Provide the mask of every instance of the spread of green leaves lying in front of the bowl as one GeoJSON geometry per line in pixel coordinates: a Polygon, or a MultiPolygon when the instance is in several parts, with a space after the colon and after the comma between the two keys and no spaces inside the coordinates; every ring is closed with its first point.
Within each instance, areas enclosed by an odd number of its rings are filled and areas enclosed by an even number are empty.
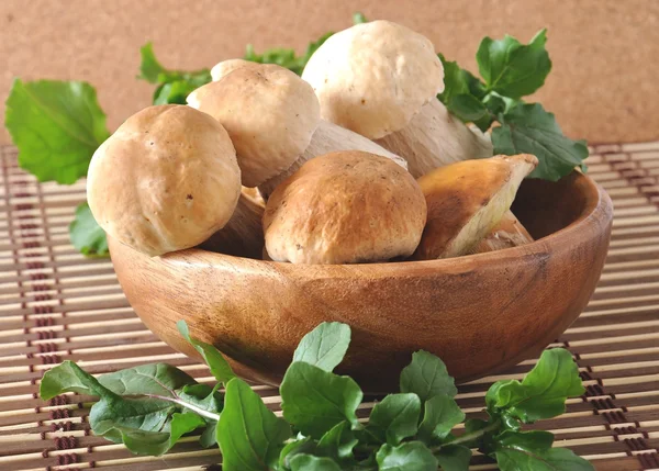
{"type": "Polygon", "coordinates": [[[227,471],[465,471],[471,448],[503,471],[593,470],[570,450],[552,448],[550,433],[521,429],[562,414],[566,399],[583,393],[567,350],[545,351],[522,382],[494,383],[485,396],[488,419],[468,419],[457,435],[451,430],[465,413],[455,401],[454,379],[426,351],[415,352],[401,372],[401,392],[378,402],[362,422],[361,389],[333,372],[349,347],[350,328],[323,323],[293,355],[280,386],[283,417],[278,417],[212,345],[190,337],[182,321],[179,330],[209,365],[219,381],[214,388],[164,363],[97,379],[66,361],[44,374],[41,395],[98,396],[89,416],[93,433],[135,453],[161,455],[198,430],[202,446],[219,444],[227,471]]]}

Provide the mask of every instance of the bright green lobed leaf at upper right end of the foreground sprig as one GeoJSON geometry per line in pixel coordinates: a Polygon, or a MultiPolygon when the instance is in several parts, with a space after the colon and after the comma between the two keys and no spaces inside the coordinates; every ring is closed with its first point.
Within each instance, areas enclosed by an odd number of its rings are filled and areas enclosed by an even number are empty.
{"type": "Polygon", "coordinates": [[[504,414],[524,423],[551,418],[566,411],[568,397],[583,394],[577,363],[568,350],[545,350],[533,370],[520,381],[498,381],[488,391],[491,415],[504,414]]]}

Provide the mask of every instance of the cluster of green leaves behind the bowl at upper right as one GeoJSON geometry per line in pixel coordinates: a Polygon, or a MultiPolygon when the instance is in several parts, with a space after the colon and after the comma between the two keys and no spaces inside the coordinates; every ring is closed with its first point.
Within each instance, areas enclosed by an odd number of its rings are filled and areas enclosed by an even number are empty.
{"type": "Polygon", "coordinates": [[[538,90],[551,70],[546,42],[545,30],[526,45],[509,35],[483,38],[476,54],[482,80],[439,55],[445,88],[437,98],[453,114],[481,131],[499,123],[492,130],[494,154],[533,154],[539,165],[530,177],[556,181],[574,167],[585,170],[588,146],[565,136],[554,114],[541,104],[522,100],[538,90]]]}

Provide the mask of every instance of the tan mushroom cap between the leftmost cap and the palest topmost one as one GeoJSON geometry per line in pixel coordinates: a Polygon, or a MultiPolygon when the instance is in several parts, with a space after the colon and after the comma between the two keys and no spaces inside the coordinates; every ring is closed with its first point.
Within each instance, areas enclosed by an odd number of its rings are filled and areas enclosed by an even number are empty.
{"type": "Polygon", "coordinates": [[[288,169],[321,119],[309,83],[276,65],[239,67],[193,91],[188,103],[226,128],[245,187],[257,187],[288,169]]]}

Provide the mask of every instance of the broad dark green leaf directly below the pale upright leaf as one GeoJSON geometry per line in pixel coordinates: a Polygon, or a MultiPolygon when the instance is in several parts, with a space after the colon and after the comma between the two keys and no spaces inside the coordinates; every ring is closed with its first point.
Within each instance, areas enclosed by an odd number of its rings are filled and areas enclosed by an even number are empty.
{"type": "Polygon", "coordinates": [[[364,394],[351,378],[294,361],[279,392],[283,417],[304,435],[319,439],[343,420],[359,424],[356,411],[364,394]]]}

